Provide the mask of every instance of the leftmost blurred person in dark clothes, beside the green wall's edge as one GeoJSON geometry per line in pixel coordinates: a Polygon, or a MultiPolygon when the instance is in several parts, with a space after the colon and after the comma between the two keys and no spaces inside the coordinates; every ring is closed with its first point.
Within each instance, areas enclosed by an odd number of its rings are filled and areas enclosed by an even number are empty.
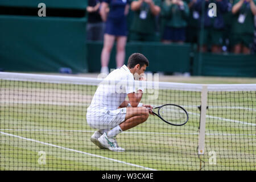
{"type": "Polygon", "coordinates": [[[86,24],[87,40],[102,41],[104,34],[104,23],[100,15],[100,4],[102,0],[88,0],[86,11],[88,20],[86,24]]]}

